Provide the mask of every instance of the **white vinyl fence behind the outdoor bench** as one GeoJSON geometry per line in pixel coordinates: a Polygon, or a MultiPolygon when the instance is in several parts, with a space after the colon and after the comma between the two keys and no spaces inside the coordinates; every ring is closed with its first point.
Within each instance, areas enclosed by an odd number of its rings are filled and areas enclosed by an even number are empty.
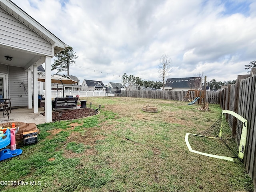
{"type": "MultiPolygon", "coordinates": [[[[45,90],[43,90],[43,95],[45,95],[45,90]]],[[[79,95],[79,97],[114,97],[114,94],[103,91],[64,91],[64,97],[66,97],[66,95],[72,95],[74,97],[77,95],[79,95]]],[[[52,90],[52,98],[55,97],[63,97],[63,91],[52,90]]]]}

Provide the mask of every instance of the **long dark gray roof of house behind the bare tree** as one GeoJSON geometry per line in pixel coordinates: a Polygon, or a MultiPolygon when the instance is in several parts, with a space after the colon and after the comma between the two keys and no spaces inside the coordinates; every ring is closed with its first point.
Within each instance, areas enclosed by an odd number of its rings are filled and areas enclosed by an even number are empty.
{"type": "Polygon", "coordinates": [[[196,84],[198,80],[201,81],[201,77],[185,77],[185,78],[168,78],[164,87],[173,88],[189,88],[196,84]]]}

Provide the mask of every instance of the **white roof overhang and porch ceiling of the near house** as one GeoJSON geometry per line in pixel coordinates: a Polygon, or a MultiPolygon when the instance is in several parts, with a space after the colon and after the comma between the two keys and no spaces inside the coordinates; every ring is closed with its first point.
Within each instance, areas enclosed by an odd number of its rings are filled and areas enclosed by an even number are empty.
{"type": "MultiPolygon", "coordinates": [[[[22,24],[33,30],[36,34],[40,35],[50,44],[52,44],[52,54],[47,55],[53,57],[56,53],[64,50],[68,45],[64,44],[59,38],[54,36],[44,26],[30,17],[21,8],[16,6],[10,0],[1,0],[0,8],[8,12],[11,16],[19,20],[22,24]]],[[[22,67],[24,70],[28,69],[32,65],[40,66],[45,62],[45,56],[42,53],[20,49],[19,47],[10,47],[9,45],[0,44],[0,64],[8,66],[22,67]],[[12,61],[7,61],[4,56],[12,56],[12,61]]]]}

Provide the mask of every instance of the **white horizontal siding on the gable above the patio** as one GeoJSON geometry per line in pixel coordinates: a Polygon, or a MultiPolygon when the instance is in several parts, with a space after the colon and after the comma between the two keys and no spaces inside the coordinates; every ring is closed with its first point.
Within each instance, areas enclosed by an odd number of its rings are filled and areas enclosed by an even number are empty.
{"type": "Polygon", "coordinates": [[[52,56],[52,44],[0,8],[0,44],[52,56]]]}

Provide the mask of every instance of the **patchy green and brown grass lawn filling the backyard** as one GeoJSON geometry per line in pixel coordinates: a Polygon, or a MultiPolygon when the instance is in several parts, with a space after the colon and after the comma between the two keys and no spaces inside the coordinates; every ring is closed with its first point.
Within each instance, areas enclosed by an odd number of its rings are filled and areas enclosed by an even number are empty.
{"type": "Polygon", "coordinates": [[[141,98],[80,98],[96,116],[38,125],[38,143],[0,162],[2,192],[253,191],[239,160],[189,152],[186,132],[199,133],[221,115],[187,102],[141,98]],[[157,113],[142,106],[158,108],[157,113]],[[18,183],[19,182],[19,183],[18,183]],[[22,185],[22,182],[24,185],[22,185]],[[26,185],[28,182],[28,185],[26,185]],[[31,182],[31,183],[30,183],[31,182]]]}

